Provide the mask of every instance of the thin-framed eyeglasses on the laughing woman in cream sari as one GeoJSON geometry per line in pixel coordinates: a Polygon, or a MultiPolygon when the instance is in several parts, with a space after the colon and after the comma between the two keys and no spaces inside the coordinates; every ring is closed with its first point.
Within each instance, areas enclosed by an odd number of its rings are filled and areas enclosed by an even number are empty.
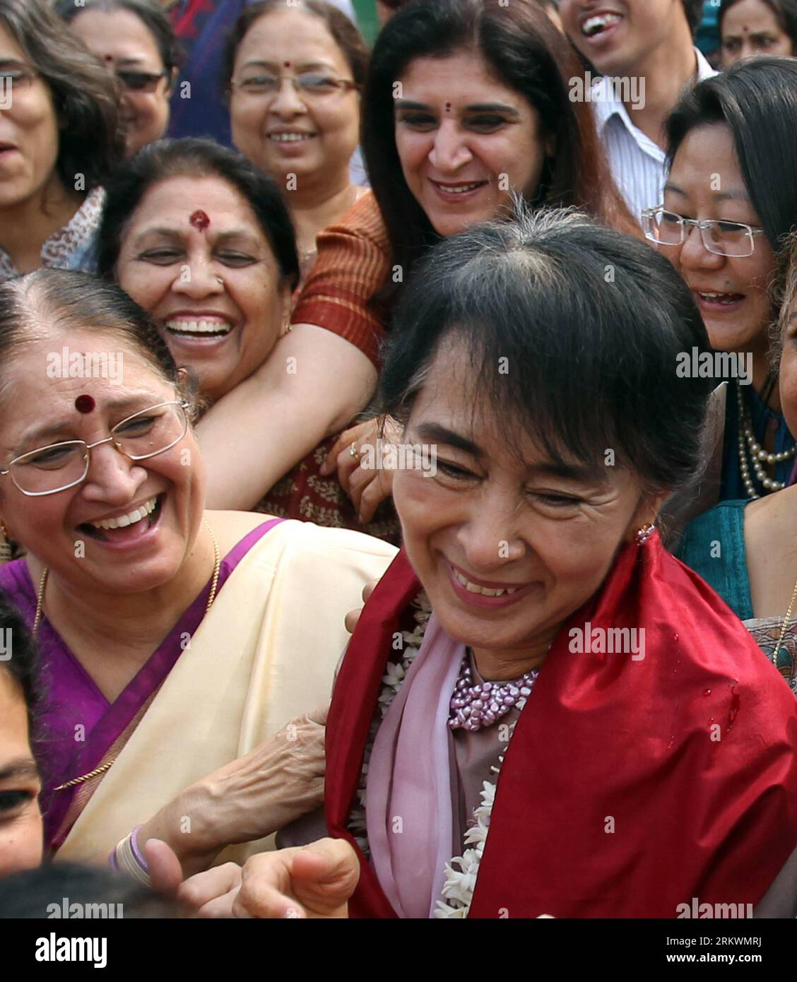
{"type": "Polygon", "coordinates": [[[188,429],[186,402],[158,403],[127,416],[112,427],[111,435],[95,443],[64,440],[28,451],[0,468],[29,498],[56,494],[81,484],[88,475],[91,451],[104,443],[131,461],[146,461],[180,443],[188,429]]]}

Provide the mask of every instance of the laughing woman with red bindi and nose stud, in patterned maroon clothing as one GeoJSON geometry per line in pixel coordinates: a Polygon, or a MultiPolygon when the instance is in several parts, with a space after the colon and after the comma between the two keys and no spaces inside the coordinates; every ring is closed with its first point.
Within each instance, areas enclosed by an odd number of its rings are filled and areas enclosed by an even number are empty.
{"type": "MultiPolygon", "coordinates": [[[[245,157],[189,137],[144,147],[107,191],[99,271],[155,318],[212,407],[274,356],[289,329],[299,268],[288,207],[245,157]]],[[[281,368],[291,373],[292,363],[281,368]]],[[[395,516],[383,510],[361,523],[337,477],[321,477],[334,443],[322,441],[280,475],[256,510],[394,541],[395,516]]],[[[214,466],[208,461],[211,476],[214,466]]]]}

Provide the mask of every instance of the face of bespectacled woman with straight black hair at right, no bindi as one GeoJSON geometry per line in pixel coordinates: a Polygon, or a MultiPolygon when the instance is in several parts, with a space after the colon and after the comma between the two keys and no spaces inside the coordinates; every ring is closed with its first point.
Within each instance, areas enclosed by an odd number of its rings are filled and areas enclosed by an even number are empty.
{"type": "MultiPolygon", "coordinates": [[[[723,123],[696,127],[683,139],[664,187],[664,207],[685,218],[761,226],[733,136],[723,123]]],[[[739,258],[708,251],[694,229],[683,245],[659,249],[692,290],[712,346],[722,352],[752,352],[754,385],[760,385],[762,372],[767,372],[773,312],[769,286],[775,271],[767,237],[757,236],[753,254],[739,258]]]]}

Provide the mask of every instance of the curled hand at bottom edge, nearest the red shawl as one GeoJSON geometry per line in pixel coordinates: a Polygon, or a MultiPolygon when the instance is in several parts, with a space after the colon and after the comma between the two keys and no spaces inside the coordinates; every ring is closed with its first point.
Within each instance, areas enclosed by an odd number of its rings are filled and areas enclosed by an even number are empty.
{"type": "Polygon", "coordinates": [[[359,880],[354,850],[340,839],[261,852],[246,860],[236,917],[347,917],[359,880]]]}

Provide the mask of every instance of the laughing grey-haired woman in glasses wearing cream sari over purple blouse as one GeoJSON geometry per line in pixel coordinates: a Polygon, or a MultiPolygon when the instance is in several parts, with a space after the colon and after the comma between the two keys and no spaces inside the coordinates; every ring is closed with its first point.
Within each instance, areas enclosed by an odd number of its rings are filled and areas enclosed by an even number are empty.
{"type": "Polygon", "coordinates": [[[42,650],[46,845],[140,868],[157,837],[195,872],[320,801],[323,712],[280,727],[329,697],[395,550],[205,514],[180,374],[117,287],[3,285],[0,364],[0,518],[27,550],[0,585],[42,650]]]}

